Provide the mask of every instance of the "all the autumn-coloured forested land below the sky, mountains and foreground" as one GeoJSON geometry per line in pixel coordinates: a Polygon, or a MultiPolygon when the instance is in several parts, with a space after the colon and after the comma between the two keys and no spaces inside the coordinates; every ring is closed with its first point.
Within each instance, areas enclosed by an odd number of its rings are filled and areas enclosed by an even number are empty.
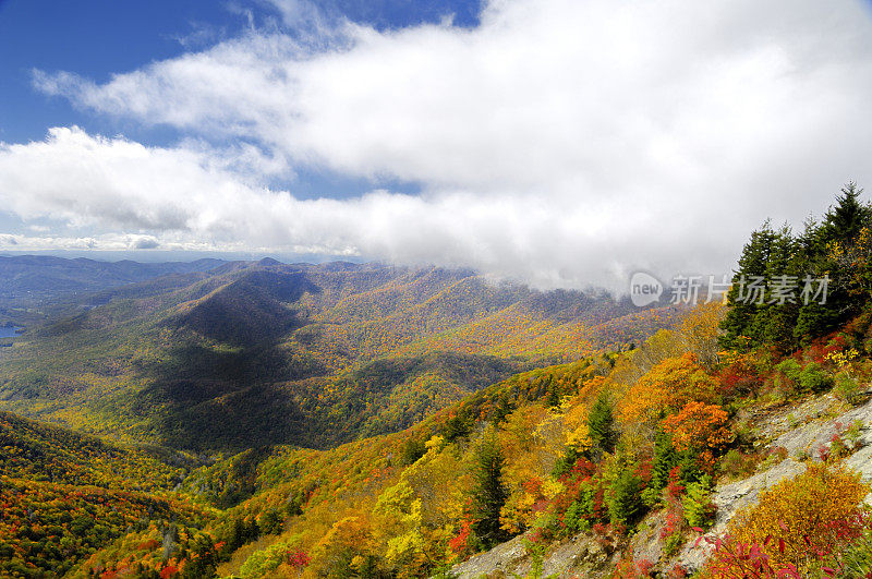
{"type": "Polygon", "coordinates": [[[855,183],[749,233],[723,301],[380,263],[0,272],[2,577],[872,577],[855,183]]]}

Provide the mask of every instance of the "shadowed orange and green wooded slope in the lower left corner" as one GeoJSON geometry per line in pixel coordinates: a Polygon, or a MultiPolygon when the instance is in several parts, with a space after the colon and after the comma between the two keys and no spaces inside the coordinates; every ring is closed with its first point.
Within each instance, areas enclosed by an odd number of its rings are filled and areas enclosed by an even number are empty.
{"type": "Polygon", "coordinates": [[[133,531],[201,529],[214,517],[171,492],[191,457],[119,447],[5,412],[0,450],[2,577],[61,577],[133,531]]]}

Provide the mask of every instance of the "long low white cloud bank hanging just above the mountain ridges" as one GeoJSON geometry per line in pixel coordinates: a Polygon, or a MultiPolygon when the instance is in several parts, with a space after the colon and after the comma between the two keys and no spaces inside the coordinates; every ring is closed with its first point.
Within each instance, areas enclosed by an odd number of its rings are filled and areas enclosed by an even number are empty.
{"type": "MultiPolygon", "coordinates": [[[[677,242],[616,242],[608,216],[536,197],[464,192],[301,201],[246,183],[205,153],[146,147],[56,128],[44,142],[0,146],[0,203],[24,218],[110,228],[86,237],[12,236],[19,249],[264,251],[364,255],[479,267],[543,287],[614,281],[620,256],[653,263],[677,242]],[[133,232],[130,232],[133,231],[133,232]]],[[[625,212],[629,221],[646,218],[625,212]]]]}

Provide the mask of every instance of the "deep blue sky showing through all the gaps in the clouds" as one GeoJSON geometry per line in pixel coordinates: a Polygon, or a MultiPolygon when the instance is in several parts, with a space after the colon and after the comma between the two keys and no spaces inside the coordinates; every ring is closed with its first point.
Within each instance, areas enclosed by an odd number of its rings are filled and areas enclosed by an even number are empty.
{"type": "MultiPolygon", "coordinates": [[[[325,14],[379,31],[446,17],[457,26],[475,26],[481,8],[477,0],[326,0],[317,7],[325,14]]],[[[0,0],[0,141],[38,141],[49,126],[76,124],[92,133],[122,133],[153,145],[171,144],[180,137],[180,131],[171,126],[144,126],[40,94],[34,88],[34,69],[72,71],[106,82],[114,73],[238,36],[252,22],[265,25],[278,19],[274,7],[251,0],[0,0]]],[[[305,168],[293,180],[295,194],[305,198],[360,195],[374,184],[417,191],[414,183],[389,177],[356,179],[305,168]]]]}

